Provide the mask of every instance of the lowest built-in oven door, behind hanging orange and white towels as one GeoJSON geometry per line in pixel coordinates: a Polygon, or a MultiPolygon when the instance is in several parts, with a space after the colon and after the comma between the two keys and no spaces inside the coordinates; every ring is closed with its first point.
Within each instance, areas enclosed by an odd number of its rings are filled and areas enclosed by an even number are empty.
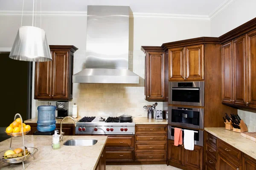
{"type": "MultiPolygon", "coordinates": [[[[175,126],[168,125],[168,139],[174,140],[174,127],[175,126]]],[[[181,128],[181,129],[187,129],[187,128],[181,128]]],[[[187,130],[192,130],[192,129],[187,129],[187,130]]],[[[194,134],[195,145],[203,146],[203,143],[204,143],[204,140],[203,140],[204,131],[203,130],[195,130],[195,131],[198,132],[198,133],[194,134]]],[[[184,140],[184,132],[183,131],[182,131],[182,139],[184,140]]]]}

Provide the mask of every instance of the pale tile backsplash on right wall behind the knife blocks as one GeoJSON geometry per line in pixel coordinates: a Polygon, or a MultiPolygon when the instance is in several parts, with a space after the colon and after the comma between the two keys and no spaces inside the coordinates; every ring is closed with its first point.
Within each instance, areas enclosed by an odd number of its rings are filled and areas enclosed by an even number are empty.
{"type": "Polygon", "coordinates": [[[256,113],[237,110],[238,115],[244,120],[249,132],[256,132],[256,113]]]}

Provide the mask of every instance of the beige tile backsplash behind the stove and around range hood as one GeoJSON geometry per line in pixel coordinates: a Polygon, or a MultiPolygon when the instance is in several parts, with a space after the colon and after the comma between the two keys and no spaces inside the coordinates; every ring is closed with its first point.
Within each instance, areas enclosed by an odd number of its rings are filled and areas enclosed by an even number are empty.
{"type": "MultiPolygon", "coordinates": [[[[77,51],[79,52],[79,51],[77,51]]],[[[74,73],[83,69],[84,52],[75,53],[74,73]],[[79,70],[78,67],[81,67],[79,70]]],[[[140,76],[139,84],[101,84],[73,83],[73,99],[69,102],[69,115],[72,105],[78,105],[79,116],[120,116],[127,113],[131,116],[145,117],[144,105],[153,105],[144,99],[145,90],[145,54],[142,51],[129,51],[129,70],[140,76]]],[[[36,100],[39,105],[47,105],[48,101],[36,100]]],[[[157,110],[163,109],[163,102],[157,102],[157,110]]],[[[56,105],[56,101],[51,101],[56,105]]],[[[36,110],[36,116],[38,115],[36,110]]]]}

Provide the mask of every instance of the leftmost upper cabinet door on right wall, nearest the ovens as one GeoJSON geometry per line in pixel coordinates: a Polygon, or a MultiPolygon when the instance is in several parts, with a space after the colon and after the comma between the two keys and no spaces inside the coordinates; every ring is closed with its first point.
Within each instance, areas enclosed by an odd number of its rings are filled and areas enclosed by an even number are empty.
{"type": "Polygon", "coordinates": [[[232,41],[222,45],[222,102],[233,103],[232,41]]]}

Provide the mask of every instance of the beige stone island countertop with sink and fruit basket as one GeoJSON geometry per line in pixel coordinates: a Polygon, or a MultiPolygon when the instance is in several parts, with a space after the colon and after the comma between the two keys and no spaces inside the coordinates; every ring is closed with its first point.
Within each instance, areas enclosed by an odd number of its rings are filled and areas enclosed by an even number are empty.
{"type": "MultiPolygon", "coordinates": [[[[63,142],[68,139],[97,139],[93,146],[64,146],[52,149],[52,136],[26,135],[25,146],[36,147],[38,152],[33,157],[25,161],[26,170],[95,170],[101,153],[105,147],[107,136],[63,136],[63,142]]],[[[10,140],[0,142],[0,150],[9,149],[10,140]]],[[[22,137],[12,139],[12,147],[22,148],[22,137]]],[[[7,164],[0,161],[1,170],[23,170],[22,163],[7,164]]]]}

